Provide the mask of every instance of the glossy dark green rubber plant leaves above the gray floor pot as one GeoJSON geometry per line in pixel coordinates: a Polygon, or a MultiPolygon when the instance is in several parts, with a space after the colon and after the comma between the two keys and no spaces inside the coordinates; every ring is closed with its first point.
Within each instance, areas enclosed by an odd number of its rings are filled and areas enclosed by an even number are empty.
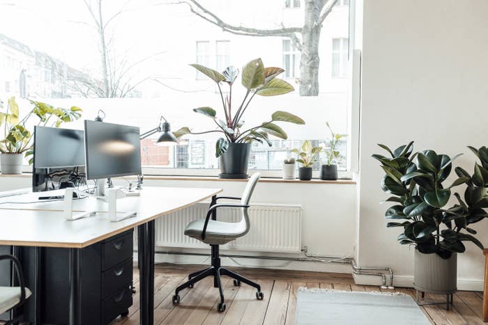
{"type": "Polygon", "coordinates": [[[413,141],[390,150],[386,145],[379,145],[390,157],[373,154],[379,160],[386,173],[381,182],[381,189],[392,194],[386,202],[395,203],[386,210],[387,227],[402,227],[398,236],[400,244],[416,246],[420,253],[436,253],[448,259],[452,253],[466,250],[464,241],[472,241],[483,248],[473,235],[476,231],[471,224],[485,219],[488,214],[488,150],[485,147],[471,148],[481,160],[475,165],[474,175],[457,167],[457,179],[445,185],[452,171],[452,161],[459,154],[450,158],[437,154],[433,150],[413,153],[413,141]],[[464,199],[459,193],[452,193],[453,188],[466,184],[464,199]],[[457,203],[446,207],[451,196],[457,203]]]}

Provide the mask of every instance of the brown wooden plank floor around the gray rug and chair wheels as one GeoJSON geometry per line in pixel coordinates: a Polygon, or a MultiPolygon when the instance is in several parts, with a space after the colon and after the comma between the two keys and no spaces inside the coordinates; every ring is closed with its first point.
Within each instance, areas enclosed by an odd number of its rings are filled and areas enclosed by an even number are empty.
{"type": "MultiPolygon", "coordinates": [[[[217,312],[218,289],[213,280],[206,278],[194,288],[180,293],[181,303],[173,306],[174,289],[185,282],[189,273],[202,269],[201,265],[158,265],[154,281],[154,324],[295,324],[296,294],[298,287],[321,287],[348,291],[398,291],[413,295],[405,288],[380,290],[379,287],[355,285],[348,274],[325,274],[318,272],[277,271],[270,269],[231,268],[251,280],[257,280],[264,292],[264,300],[256,299],[256,291],[247,285],[234,287],[224,276],[225,312],[217,312]]],[[[139,274],[134,275],[138,291],[139,274]]],[[[427,299],[434,297],[427,295],[427,299]]],[[[437,299],[443,299],[437,296],[437,299]]],[[[432,324],[488,324],[482,322],[482,294],[458,292],[454,306],[445,310],[445,305],[421,307],[432,324]]],[[[128,317],[119,317],[112,324],[139,324],[139,296],[128,317]]]]}

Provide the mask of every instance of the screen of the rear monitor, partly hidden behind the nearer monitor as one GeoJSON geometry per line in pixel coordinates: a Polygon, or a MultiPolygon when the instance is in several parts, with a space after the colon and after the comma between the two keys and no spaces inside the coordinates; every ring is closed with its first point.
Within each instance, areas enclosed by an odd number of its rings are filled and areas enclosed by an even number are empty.
{"type": "Polygon", "coordinates": [[[34,168],[84,166],[84,134],[76,129],[34,128],[34,168]]]}

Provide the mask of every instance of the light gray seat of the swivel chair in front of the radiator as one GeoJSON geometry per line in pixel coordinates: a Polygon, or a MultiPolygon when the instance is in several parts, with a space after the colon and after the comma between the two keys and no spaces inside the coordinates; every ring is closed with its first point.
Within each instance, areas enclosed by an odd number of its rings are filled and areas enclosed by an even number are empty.
{"type": "Polygon", "coordinates": [[[227,244],[238,237],[241,237],[246,232],[246,225],[244,222],[230,223],[223,221],[209,220],[205,239],[201,239],[201,232],[204,230],[205,219],[197,219],[188,223],[185,228],[185,235],[203,241],[210,245],[227,244]]]}

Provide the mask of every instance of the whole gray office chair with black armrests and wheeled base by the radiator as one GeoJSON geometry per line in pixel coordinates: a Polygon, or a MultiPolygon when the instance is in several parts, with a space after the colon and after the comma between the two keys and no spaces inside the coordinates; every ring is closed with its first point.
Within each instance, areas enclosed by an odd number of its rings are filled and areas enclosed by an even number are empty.
{"type": "Polygon", "coordinates": [[[176,305],[180,302],[180,296],[178,292],[187,288],[193,287],[199,280],[206,278],[207,276],[213,276],[213,286],[219,288],[220,303],[217,310],[223,312],[225,310],[224,294],[222,292],[222,281],[220,276],[230,276],[234,278],[234,285],[237,287],[241,285],[241,282],[251,285],[257,289],[256,298],[263,300],[264,294],[261,292],[261,286],[257,283],[247,280],[243,276],[236,274],[235,272],[220,267],[219,245],[227,244],[229,241],[233,241],[236,238],[243,237],[250,228],[249,215],[247,214],[247,208],[250,207],[249,201],[252,196],[252,192],[256,187],[259,180],[259,173],[252,175],[247,182],[242,198],[234,198],[229,196],[215,197],[212,200],[210,208],[208,209],[206,219],[198,219],[192,221],[185,228],[185,235],[203,241],[205,244],[211,246],[211,267],[204,269],[188,276],[188,282],[183,283],[176,288],[176,292],[173,296],[173,303],[176,305]],[[223,203],[217,204],[217,200],[241,200],[241,204],[223,203]],[[240,207],[243,210],[243,217],[238,223],[217,221],[217,209],[220,207],[240,207]]]}

